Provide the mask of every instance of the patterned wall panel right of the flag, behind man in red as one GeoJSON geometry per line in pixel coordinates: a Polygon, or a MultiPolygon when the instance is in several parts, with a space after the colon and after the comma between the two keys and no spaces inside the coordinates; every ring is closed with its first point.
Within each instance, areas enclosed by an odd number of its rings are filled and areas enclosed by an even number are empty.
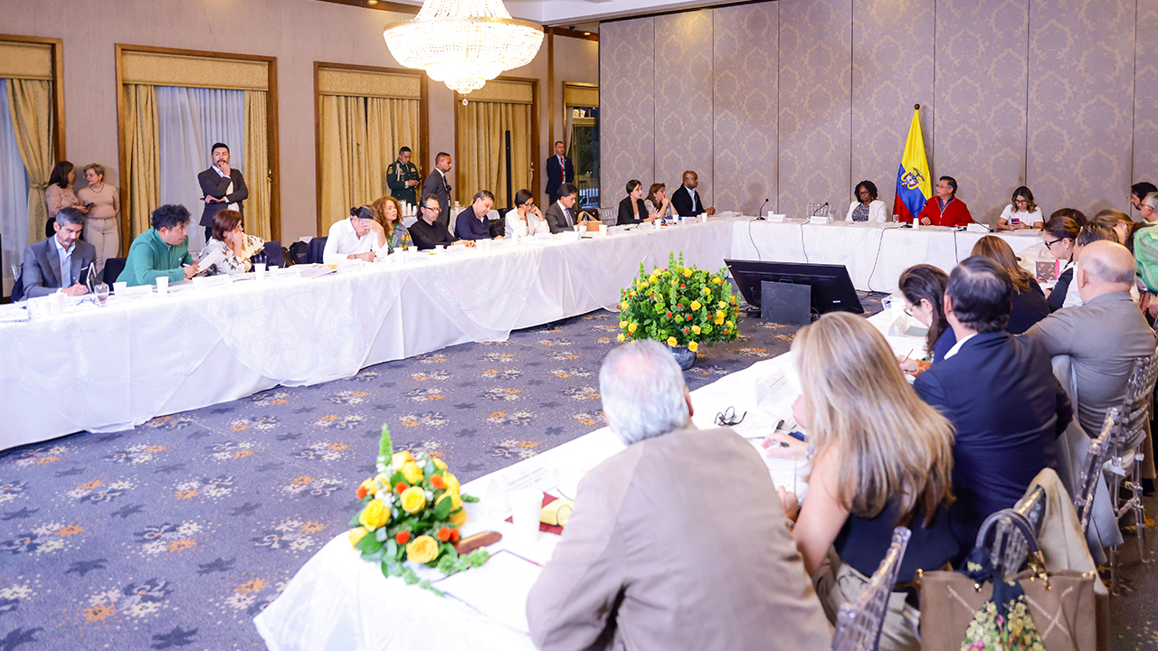
{"type": "Polygon", "coordinates": [[[924,120],[926,142],[932,134],[937,145],[931,170],[957,178],[961,200],[987,224],[1025,182],[1026,6],[937,2],[937,120],[924,120]]]}

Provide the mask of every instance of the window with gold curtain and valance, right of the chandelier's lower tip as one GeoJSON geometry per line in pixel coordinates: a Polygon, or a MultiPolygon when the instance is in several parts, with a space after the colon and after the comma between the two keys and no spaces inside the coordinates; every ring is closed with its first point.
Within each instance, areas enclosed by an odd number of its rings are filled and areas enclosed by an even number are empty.
{"type": "MultiPolygon", "coordinates": [[[[462,97],[460,96],[459,100],[462,97]]],[[[456,199],[469,204],[479,190],[494,195],[497,207],[511,206],[507,196],[506,132],[511,132],[511,192],[534,186],[535,86],[532,82],[494,80],[456,104],[459,133],[454,161],[456,199]]]]}

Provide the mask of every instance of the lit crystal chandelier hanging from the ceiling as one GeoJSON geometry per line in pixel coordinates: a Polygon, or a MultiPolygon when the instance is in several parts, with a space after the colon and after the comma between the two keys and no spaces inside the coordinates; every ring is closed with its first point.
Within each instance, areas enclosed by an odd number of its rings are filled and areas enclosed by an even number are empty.
{"type": "Polygon", "coordinates": [[[529,64],[543,28],[512,19],[503,0],[426,0],[416,19],[386,25],[382,37],[400,64],[466,95],[529,64]]]}

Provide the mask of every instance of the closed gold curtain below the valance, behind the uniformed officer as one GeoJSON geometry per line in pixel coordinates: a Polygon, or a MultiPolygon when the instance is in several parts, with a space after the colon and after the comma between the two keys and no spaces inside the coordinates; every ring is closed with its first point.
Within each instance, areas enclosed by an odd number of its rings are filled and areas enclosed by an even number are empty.
{"type": "Polygon", "coordinates": [[[422,160],[417,100],[323,95],[321,120],[323,228],[390,192],[386,170],[403,145],[422,160]]]}

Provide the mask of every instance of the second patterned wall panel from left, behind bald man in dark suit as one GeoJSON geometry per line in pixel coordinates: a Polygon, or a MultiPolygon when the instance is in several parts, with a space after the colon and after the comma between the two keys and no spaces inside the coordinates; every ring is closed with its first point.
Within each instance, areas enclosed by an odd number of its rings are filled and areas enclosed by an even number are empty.
{"type": "MultiPolygon", "coordinates": [[[[686,169],[712,204],[712,14],[655,17],[655,180],[668,192],[686,169]]],[[[637,177],[638,178],[638,177],[637,177]]]]}

